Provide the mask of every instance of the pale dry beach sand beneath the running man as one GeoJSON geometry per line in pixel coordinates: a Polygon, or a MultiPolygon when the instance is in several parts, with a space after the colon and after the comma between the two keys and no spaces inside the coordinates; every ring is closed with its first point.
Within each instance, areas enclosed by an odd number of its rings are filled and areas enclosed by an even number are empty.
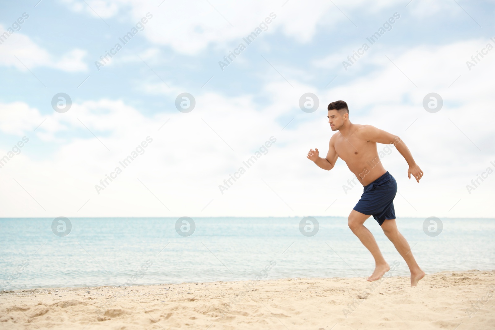
{"type": "Polygon", "coordinates": [[[248,283],[2,292],[0,329],[495,329],[495,271],[248,283]]]}

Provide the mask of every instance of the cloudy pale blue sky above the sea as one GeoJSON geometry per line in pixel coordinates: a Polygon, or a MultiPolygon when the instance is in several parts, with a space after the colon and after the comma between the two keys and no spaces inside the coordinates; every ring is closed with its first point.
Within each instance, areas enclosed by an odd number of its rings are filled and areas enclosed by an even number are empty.
{"type": "Polygon", "coordinates": [[[0,217],[346,217],[335,100],[423,170],[378,144],[397,218],[494,217],[495,1],[1,6],[0,217]]]}

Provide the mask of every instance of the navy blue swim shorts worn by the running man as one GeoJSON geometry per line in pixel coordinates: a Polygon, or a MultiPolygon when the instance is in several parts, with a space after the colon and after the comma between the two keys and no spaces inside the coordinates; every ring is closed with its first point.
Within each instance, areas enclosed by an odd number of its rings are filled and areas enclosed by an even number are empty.
{"type": "Polygon", "coordinates": [[[394,198],[397,193],[396,179],[387,171],[368,186],[354,206],[354,210],[372,215],[381,226],[387,219],[395,219],[394,198]]]}

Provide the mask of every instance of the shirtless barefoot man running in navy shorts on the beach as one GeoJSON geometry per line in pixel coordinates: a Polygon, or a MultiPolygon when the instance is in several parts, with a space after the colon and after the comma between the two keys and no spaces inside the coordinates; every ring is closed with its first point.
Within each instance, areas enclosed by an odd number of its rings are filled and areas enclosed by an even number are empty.
{"type": "Polygon", "coordinates": [[[318,156],[318,149],[310,149],[307,158],[322,169],[330,171],[335,166],[337,158],[340,157],[364,186],[361,198],[349,214],[348,225],[375,258],[375,271],[368,277],[368,281],[379,280],[390,270],[378,248],[375,237],[363,226],[364,221],[372,215],[409,266],[411,286],[416,286],[418,281],[425,276],[425,272],[419,268],[412,256],[409,244],[397,230],[393,202],[397,183],[380,162],[376,143],[396,146],[409,165],[407,171],[409,179],[412,174],[419,183],[423,171],[416,165],[411,152],[399,137],[371,125],[352,124],[349,121],[349,109],[346,102],[335,101],[328,105],[328,123],[332,131],[339,131],[339,133],[330,138],[327,156],[321,158],[318,156]]]}

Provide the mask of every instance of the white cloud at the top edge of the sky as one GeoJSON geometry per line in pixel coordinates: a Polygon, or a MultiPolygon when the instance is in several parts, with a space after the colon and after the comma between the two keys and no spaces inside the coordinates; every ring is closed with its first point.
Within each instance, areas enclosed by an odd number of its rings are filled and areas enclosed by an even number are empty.
{"type": "MultiPolygon", "coordinates": [[[[253,32],[272,12],[276,18],[262,34],[271,34],[280,29],[287,37],[306,43],[320,26],[325,29],[353,29],[353,23],[340,9],[352,16],[352,11],[363,8],[368,13],[376,13],[383,8],[403,4],[403,1],[398,0],[335,1],[339,7],[323,0],[214,0],[209,1],[211,4],[208,1],[179,1],[174,2],[173,6],[167,1],[160,4],[161,1],[88,0],[88,5],[75,0],[64,2],[72,10],[86,12],[96,19],[99,19],[97,14],[103,19],[126,17],[131,25],[150,12],[153,18],[144,30],[148,40],[187,54],[196,54],[209,44],[220,44],[227,49],[227,43],[242,42],[242,38],[253,32]]],[[[438,7],[441,9],[445,5],[438,7]]]]}

